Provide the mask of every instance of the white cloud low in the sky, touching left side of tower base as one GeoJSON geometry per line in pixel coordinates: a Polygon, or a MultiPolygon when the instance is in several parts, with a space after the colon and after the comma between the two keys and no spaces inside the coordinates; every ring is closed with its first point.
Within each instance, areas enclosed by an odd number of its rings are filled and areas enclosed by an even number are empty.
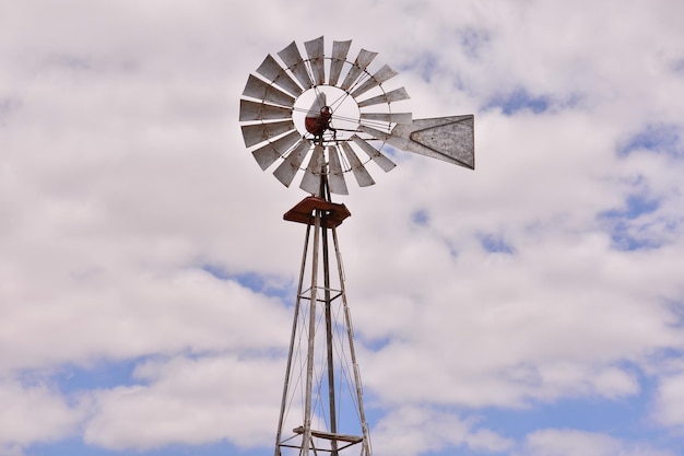
{"type": "Polygon", "coordinates": [[[139,365],[133,386],[82,398],[91,410],[83,439],[109,449],[144,451],[173,443],[271,442],[283,359],[235,354],[177,356],[139,365]]]}

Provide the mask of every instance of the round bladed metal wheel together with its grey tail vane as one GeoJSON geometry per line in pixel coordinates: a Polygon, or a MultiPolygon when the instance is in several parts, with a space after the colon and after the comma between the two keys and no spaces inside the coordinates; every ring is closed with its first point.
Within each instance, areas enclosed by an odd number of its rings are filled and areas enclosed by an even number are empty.
{"type": "Polygon", "coordinates": [[[377,52],[361,49],[349,59],[352,42],[333,42],[323,52],[323,37],[296,43],[268,55],[250,74],[240,100],[245,145],[262,169],[286,187],[302,171],[299,187],[317,195],[321,178],[331,192],[346,195],[344,175],[361,187],[375,184],[366,166],[388,172],[396,165],[390,148],[439,159],[471,169],[474,160],[472,115],[413,119],[394,106],[409,100],[404,87],[386,82],[398,73],[382,66],[372,72],[377,52]]]}

